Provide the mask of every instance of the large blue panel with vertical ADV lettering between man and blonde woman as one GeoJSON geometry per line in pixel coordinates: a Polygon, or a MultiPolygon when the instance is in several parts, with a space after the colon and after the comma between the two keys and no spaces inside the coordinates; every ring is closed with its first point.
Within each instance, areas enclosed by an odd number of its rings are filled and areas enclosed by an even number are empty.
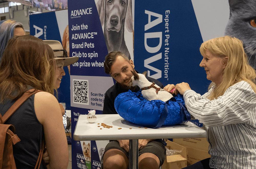
{"type": "Polygon", "coordinates": [[[135,1],[134,64],[165,85],[189,83],[204,94],[210,83],[199,67],[203,42],[191,1],[135,1]],[[138,66],[137,66],[138,65],[138,66]]]}

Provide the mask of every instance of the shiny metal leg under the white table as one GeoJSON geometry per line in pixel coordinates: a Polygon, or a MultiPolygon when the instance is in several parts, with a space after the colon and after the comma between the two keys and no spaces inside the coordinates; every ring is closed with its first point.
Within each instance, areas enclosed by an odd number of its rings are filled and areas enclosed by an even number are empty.
{"type": "Polygon", "coordinates": [[[129,169],[138,169],[138,140],[129,140],[129,169]]]}

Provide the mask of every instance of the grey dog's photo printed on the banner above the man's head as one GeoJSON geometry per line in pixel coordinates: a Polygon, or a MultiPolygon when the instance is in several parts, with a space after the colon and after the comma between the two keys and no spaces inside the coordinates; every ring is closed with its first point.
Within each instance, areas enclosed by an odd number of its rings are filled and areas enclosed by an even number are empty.
{"type": "Polygon", "coordinates": [[[131,0],[99,0],[96,6],[101,26],[104,25],[103,33],[108,53],[121,51],[131,59],[124,40],[126,31],[133,32],[131,0]]]}

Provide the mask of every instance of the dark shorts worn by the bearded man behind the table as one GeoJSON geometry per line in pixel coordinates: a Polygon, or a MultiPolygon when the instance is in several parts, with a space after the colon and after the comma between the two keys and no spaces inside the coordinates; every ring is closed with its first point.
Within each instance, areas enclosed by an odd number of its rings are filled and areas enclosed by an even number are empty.
{"type": "MultiPolygon", "coordinates": [[[[104,154],[105,154],[106,151],[108,151],[110,149],[121,150],[126,155],[126,157],[129,159],[129,152],[126,152],[122,147],[120,147],[118,141],[111,140],[109,142],[109,144],[106,145],[104,154]]],[[[138,156],[140,156],[143,153],[153,153],[153,154],[155,154],[159,158],[160,166],[161,166],[161,165],[163,165],[164,160],[165,160],[165,154],[166,154],[165,145],[162,142],[159,142],[159,141],[151,141],[144,148],[139,150],[138,156]]],[[[103,154],[103,157],[104,157],[104,154],[103,154]]]]}

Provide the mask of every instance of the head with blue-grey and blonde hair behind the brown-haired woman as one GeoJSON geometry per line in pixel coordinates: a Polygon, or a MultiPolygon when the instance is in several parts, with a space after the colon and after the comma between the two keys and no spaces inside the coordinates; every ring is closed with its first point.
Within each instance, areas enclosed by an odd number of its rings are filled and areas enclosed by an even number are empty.
{"type": "Polygon", "coordinates": [[[14,20],[2,20],[0,21],[0,62],[7,42],[13,36],[25,35],[24,27],[22,23],[14,20]]]}

